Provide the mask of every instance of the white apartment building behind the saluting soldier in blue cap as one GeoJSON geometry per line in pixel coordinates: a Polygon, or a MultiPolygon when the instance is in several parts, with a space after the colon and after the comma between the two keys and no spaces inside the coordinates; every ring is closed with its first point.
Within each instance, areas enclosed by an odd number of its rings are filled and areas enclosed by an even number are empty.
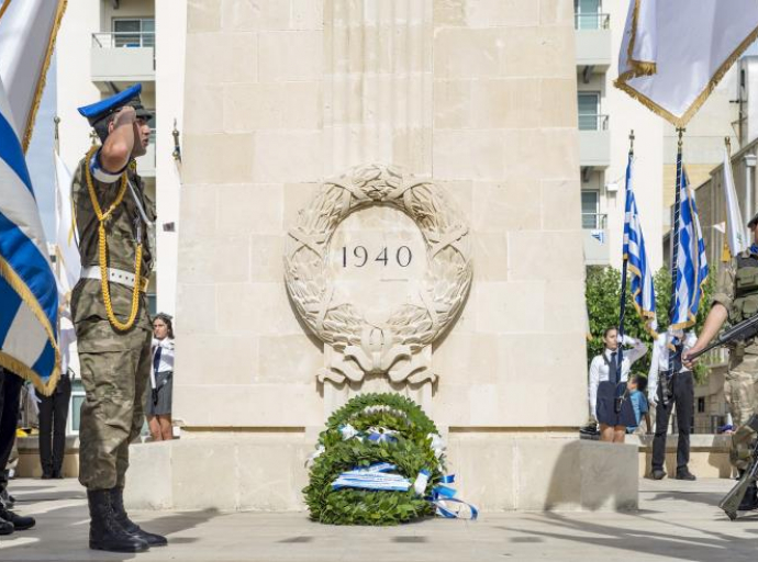
{"type": "Polygon", "coordinates": [[[92,143],[78,106],[141,82],[142,102],[155,112],[148,151],[137,160],[158,213],[152,313],[174,314],[176,302],[180,164],[172,132],[182,124],[186,12],[185,0],[77,0],[68,2],[56,42],[60,155],[70,170],[92,143]]]}

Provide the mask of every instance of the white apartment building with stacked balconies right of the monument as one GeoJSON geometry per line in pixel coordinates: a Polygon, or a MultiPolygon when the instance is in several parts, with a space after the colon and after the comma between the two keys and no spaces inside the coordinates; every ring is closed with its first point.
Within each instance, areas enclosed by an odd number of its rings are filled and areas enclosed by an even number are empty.
{"type": "Polygon", "coordinates": [[[613,86],[626,2],[575,0],[582,228],[588,266],[621,267],[629,133],[648,256],[662,265],[664,121],[613,86]]]}

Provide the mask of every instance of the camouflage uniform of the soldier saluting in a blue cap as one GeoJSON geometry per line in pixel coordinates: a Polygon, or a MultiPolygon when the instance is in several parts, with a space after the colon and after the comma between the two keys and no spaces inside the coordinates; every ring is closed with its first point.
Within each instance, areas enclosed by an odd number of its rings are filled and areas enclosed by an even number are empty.
{"type": "MultiPolygon", "coordinates": [[[[82,268],[99,263],[99,222],[87,189],[86,160],[79,162],[71,186],[82,268]]],[[[134,194],[126,189],[123,201],[105,224],[108,266],[134,273],[138,226],[144,240],[141,277],[149,279],[153,258],[147,243],[148,225],[135,198],[151,222],[155,220],[155,205],[144,193],[133,165],[127,175],[134,194]]],[[[115,200],[120,181],[108,183],[92,177],[103,211],[115,200]]],[[[113,312],[125,322],[132,311],[133,290],[116,282],[109,286],[113,312]]],[[[123,486],[129,443],[140,435],[144,420],[144,394],[151,370],[152,323],[145,294],[141,294],[136,321],[126,331],[115,330],[108,321],[98,279],[81,279],[77,283],[71,292],[71,313],[87,393],[79,429],[79,481],[89,490],[123,486]]]]}

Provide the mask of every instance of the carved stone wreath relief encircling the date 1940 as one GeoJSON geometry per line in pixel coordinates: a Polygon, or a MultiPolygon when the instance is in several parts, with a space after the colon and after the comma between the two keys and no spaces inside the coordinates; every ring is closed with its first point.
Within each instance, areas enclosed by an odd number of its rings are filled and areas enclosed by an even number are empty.
{"type": "Polygon", "coordinates": [[[285,249],[285,280],[308,327],[326,345],[320,382],[360,382],[366,374],[392,383],[434,382],[431,344],[455,321],[471,284],[469,228],[443,190],[392,166],[364,165],[326,180],[300,211],[285,249]],[[426,246],[426,271],[417,294],[368,323],[335,290],[330,240],[352,213],[388,205],[416,224],[426,246]]]}

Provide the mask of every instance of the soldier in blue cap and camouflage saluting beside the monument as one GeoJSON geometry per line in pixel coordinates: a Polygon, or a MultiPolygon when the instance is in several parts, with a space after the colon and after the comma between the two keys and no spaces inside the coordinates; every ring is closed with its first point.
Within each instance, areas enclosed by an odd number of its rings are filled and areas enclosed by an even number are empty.
{"type": "Polygon", "coordinates": [[[79,481],[87,488],[89,546],[140,552],[166,538],[142,530],[123,504],[129,445],[142,429],[152,324],[145,289],[153,263],[155,207],[136,173],[153,115],[142,85],[79,108],[102,142],[81,159],[71,186],[81,280],[71,293],[81,381],[79,481]]]}

